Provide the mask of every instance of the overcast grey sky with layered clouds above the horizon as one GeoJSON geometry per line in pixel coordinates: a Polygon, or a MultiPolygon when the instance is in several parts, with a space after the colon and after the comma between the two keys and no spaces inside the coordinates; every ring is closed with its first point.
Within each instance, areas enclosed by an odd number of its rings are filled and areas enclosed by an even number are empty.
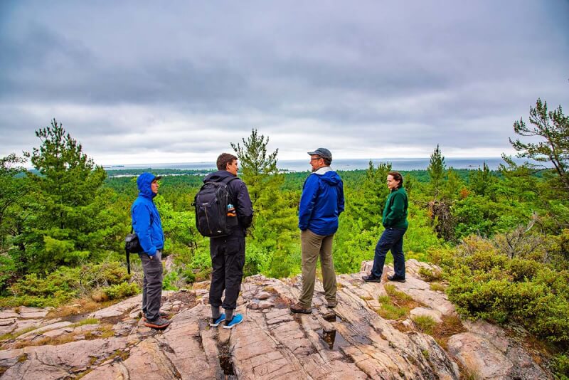
{"type": "Polygon", "coordinates": [[[0,157],[55,117],[97,164],[511,154],[569,113],[569,1],[0,1],[0,157]]]}

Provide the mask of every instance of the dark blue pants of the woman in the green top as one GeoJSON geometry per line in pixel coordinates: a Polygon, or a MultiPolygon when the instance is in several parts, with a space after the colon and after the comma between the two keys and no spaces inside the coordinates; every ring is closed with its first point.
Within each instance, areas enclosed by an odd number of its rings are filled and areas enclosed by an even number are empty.
{"type": "Polygon", "coordinates": [[[403,235],[405,235],[405,231],[407,231],[407,228],[385,228],[376,245],[376,255],[373,258],[373,268],[371,268],[373,277],[381,278],[385,255],[388,250],[391,250],[395,277],[405,278],[405,256],[403,255],[403,235]]]}

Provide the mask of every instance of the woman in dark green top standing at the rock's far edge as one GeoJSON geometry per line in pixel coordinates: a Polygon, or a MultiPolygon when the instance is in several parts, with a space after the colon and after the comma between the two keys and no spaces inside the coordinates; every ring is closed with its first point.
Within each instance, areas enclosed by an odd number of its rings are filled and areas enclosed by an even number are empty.
{"type": "Polygon", "coordinates": [[[407,231],[407,209],[409,206],[408,196],[403,189],[403,176],[398,171],[390,171],[387,176],[387,186],[390,193],[383,209],[383,227],[385,231],[381,235],[376,246],[376,255],[373,258],[371,274],[363,276],[364,281],[381,283],[385,255],[391,250],[393,255],[393,267],[395,274],[388,276],[390,281],[405,283],[405,256],[403,255],[403,235],[407,231]]]}

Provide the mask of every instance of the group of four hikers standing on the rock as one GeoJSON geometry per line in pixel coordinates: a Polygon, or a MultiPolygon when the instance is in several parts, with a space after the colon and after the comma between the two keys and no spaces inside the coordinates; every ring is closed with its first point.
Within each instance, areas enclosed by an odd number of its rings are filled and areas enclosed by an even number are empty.
{"type": "MultiPolygon", "coordinates": [[[[304,181],[298,211],[302,249],[302,292],[297,302],[289,307],[293,313],[304,314],[312,312],[318,258],[320,258],[326,306],[333,309],[337,305],[332,242],[334,233],[338,230],[339,215],[344,211],[344,184],[336,171],[330,167],[331,152],[325,148],[318,148],[308,154],[312,173],[304,181]]],[[[223,184],[227,188],[229,194],[227,215],[235,216],[236,221],[229,231],[220,236],[207,235],[211,236],[209,324],[217,327],[223,323],[223,328],[231,329],[243,322],[243,315],[235,314],[235,309],[243,279],[243,265],[245,265],[245,231],[251,226],[253,209],[247,186],[237,176],[238,158],[233,154],[222,153],[216,165],[218,171],[208,174],[203,179],[204,186],[213,183],[223,184]],[[223,292],[225,295],[222,300],[223,292]]],[[[142,252],[139,253],[144,271],[142,317],[146,326],[155,329],[164,329],[170,324],[166,319],[167,315],[160,312],[164,233],[159,212],[153,201],[154,196],[158,194],[160,178],[151,173],[143,173],[138,177],[139,196],[131,208],[132,228],[137,233],[142,248],[142,252]]],[[[388,250],[393,254],[395,274],[388,276],[387,279],[405,282],[403,235],[408,228],[408,196],[403,188],[403,176],[397,171],[390,171],[387,176],[387,186],[390,193],[385,202],[382,218],[385,231],[376,245],[371,273],[362,277],[366,282],[381,282],[388,250]]]]}

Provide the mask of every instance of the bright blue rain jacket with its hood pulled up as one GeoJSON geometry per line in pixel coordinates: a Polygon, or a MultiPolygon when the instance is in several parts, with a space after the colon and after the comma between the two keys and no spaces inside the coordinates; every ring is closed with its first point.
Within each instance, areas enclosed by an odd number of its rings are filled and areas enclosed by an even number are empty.
{"type": "Polygon", "coordinates": [[[156,194],[150,185],[156,178],[154,174],[142,173],[137,179],[139,194],[130,208],[132,228],[137,233],[140,246],[148,255],[155,255],[156,250],[164,248],[164,232],[158,209],[152,199],[156,194]]]}

